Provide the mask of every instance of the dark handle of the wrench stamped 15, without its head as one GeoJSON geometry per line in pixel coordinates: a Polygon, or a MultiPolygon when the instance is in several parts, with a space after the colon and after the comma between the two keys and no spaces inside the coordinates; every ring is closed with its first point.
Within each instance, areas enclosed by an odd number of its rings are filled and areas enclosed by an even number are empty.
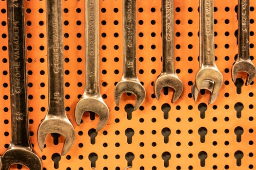
{"type": "Polygon", "coordinates": [[[123,77],[137,78],[136,0],[123,0],[123,77]]]}

